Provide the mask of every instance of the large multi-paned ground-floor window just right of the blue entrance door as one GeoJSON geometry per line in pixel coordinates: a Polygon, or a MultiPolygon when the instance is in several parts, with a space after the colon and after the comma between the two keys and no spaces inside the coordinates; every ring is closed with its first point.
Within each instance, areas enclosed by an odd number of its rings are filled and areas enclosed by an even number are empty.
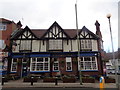
{"type": "Polygon", "coordinates": [[[49,58],[31,58],[31,71],[49,71],[49,58]]]}

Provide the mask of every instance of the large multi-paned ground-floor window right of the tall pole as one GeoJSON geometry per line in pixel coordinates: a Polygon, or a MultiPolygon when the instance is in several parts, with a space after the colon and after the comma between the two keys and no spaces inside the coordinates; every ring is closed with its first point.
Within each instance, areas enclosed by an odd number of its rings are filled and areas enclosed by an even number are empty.
{"type": "MultiPolygon", "coordinates": [[[[80,61],[79,61],[80,68],[80,61]]],[[[81,57],[81,69],[82,70],[97,70],[96,57],[81,57]]]]}

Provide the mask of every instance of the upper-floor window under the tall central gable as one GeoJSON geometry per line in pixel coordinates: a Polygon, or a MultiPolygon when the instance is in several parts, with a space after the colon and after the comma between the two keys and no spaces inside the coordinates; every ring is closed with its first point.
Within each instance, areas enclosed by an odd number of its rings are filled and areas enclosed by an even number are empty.
{"type": "Polygon", "coordinates": [[[49,40],[49,50],[62,50],[62,40],[49,40]]]}

